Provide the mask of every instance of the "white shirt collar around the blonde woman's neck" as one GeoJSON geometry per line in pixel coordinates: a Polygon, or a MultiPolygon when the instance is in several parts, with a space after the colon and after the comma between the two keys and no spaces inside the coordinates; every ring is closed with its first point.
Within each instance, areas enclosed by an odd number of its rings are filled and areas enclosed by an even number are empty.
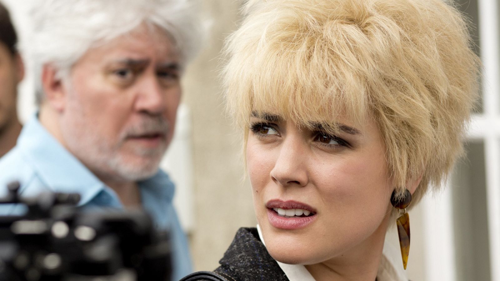
{"type": "MultiPolygon", "coordinates": [[[[260,226],[257,224],[258,236],[265,246],[264,238],[262,237],[262,232],[260,231],[260,226]]],[[[389,235],[385,235],[385,241],[383,244],[382,258],[380,260],[380,265],[378,266],[377,281],[406,281],[406,275],[402,268],[402,264],[396,263],[394,256],[397,255],[398,248],[395,248],[390,241],[388,241],[389,235]],[[392,258],[390,258],[392,257],[392,258]],[[396,266],[399,264],[399,266],[396,266]]],[[[301,264],[287,264],[276,260],[281,270],[290,281],[315,281],[314,277],[307,271],[305,266],[301,264]]]]}

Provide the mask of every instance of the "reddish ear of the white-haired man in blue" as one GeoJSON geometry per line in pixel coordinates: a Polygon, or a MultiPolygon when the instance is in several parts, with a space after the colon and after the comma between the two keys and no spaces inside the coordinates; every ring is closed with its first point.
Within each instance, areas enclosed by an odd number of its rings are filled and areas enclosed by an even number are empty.
{"type": "Polygon", "coordinates": [[[41,70],[41,84],[50,107],[62,112],[66,105],[66,88],[58,75],[58,69],[52,64],[45,64],[41,70]]]}

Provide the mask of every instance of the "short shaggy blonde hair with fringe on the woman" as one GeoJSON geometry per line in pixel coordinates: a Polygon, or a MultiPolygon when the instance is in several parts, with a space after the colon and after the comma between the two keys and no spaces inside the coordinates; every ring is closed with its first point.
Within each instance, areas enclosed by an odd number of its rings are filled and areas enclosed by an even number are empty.
{"type": "Polygon", "coordinates": [[[479,68],[450,3],[249,0],[243,13],[222,77],[244,132],[253,110],[332,130],[340,114],[374,118],[399,194],[421,177],[414,205],[440,186],[462,153],[479,68]]]}

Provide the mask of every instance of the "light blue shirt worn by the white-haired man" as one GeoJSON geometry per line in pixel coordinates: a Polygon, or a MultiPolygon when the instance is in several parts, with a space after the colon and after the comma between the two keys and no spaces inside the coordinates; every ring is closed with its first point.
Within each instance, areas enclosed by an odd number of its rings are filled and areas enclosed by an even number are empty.
{"type": "MultiPolygon", "coordinates": [[[[77,192],[82,207],[123,208],[117,194],[75,156],[67,151],[38,121],[36,114],[22,128],[12,150],[0,158],[0,196],[9,182],[21,183],[22,196],[36,196],[42,191],[77,192]]],[[[172,205],[174,185],[168,175],[158,170],[139,181],[142,206],[156,226],[170,230],[172,280],[192,272],[184,235],[172,205]]],[[[13,205],[0,206],[0,214],[16,212],[13,205]]]]}

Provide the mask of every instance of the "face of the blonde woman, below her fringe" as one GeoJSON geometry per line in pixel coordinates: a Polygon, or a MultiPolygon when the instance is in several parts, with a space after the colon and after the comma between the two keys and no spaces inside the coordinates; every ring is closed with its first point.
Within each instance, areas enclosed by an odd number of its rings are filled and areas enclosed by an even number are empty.
{"type": "Polygon", "coordinates": [[[279,112],[254,111],[246,165],[257,220],[276,260],[357,256],[358,245],[383,238],[393,186],[373,120],[297,124],[279,112]]]}

